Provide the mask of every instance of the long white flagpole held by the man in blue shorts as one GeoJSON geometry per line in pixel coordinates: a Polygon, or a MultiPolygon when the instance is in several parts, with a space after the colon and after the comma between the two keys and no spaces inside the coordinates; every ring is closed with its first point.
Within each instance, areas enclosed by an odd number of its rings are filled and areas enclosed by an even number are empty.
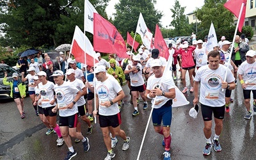
{"type": "MultiPolygon", "coordinates": [[[[171,63],[172,65],[172,54],[169,55],[169,58],[168,58],[168,63],[171,63]]],[[[163,72],[163,76],[161,77],[161,80],[160,80],[160,83],[159,83],[159,87],[161,86],[162,82],[163,82],[163,77],[164,77],[164,74],[167,72],[168,68],[170,69],[170,65],[166,65],[166,67],[164,68],[164,72],[163,72]],[[169,67],[168,67],[169,66],[169,67]]],[[[156,95],[157,97],[157,95],[156,95]]],[[[145,141],[145,137],[146,137],[146,134],[147,134],[147,130],[148,130],[148,125],[150,123],[150,119],[151,119],[151,116],[152,116],[152,112],[153,112],[153,109],[154,109],[154,106],[155,106],[155,103],[156,103],[156,97],[154,98],[154,102],[151,106],[151,111],[150,111],[150,115],[148,117],[148,122],[147,122],[147,125],[146,125],[146,129],[145,129],[145,132],[143,134],[143,138],[142,138],[142,141],[141,141],[141,145],[140,145],[140,150],[139,150],[139,153],[138,153],[138,156],[137,156],[137,160],[140,159],[140,154],[141,154],[141,150],[142,150],[142,147],[143,147],[143,143],[145,141]]]]}

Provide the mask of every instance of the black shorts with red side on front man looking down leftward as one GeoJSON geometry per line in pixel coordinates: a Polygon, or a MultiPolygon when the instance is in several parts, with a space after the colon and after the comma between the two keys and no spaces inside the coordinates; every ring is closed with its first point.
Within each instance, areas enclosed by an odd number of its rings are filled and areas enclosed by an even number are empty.
{"type": "Polygon", "coordinates": [[[99,122],[100,122],[100,127],[118,127],[122,121],[121,121],[121,115],[120,113],[117,113],[116,115],[111,115],[111,116],[102,116],[99,115],[99,122]]]}

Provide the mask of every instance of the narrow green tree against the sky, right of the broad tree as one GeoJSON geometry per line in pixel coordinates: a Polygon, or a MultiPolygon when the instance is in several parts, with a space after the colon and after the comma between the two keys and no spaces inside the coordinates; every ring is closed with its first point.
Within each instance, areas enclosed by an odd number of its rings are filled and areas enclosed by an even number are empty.
{"type": "Polygon", "coordinates": [[[186,15],[184,15],[185,8],[180,6],[178,0],[175,0],[173,8],[170,9],[173,13],[171,26],[175,28],[174,31],[177,34],[173,36],[188,35],[188,20],[186,20],[186,15]]]}

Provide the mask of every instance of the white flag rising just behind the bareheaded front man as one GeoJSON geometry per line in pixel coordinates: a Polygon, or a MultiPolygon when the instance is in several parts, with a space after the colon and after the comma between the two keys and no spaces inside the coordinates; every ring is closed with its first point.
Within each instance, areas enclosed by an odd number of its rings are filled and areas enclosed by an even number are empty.
{"type": "Polygon", "coordinates": [[[217,41],[216,32],[215,32],[213,24],[211,23],[211,28],[210,28],[209,34],[208,34],[208,40],[207,40],[205,47],[208,52],[211,52],[213,50],[213,47],[215,47],[217,45],[218,45],[218,41],[217,41]]]}

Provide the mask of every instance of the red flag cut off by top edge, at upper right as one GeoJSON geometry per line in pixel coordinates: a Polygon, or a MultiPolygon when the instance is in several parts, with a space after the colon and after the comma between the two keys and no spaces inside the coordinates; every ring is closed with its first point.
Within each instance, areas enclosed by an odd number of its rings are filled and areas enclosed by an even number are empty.
{"type": "Polygon", "coordinates": [[[227,3],[224,4],[225,8],[227,8],[230,12],[236,15],[238,19],[242,3],[244,3],[244,6],[241,13],[239,26],[238,26],[239,32],[242,32],[242,28],[244,25],[244,18],[245,18],[245,12],[246,12],[246,0],[229,0],[227,1],[227,3]]]}

